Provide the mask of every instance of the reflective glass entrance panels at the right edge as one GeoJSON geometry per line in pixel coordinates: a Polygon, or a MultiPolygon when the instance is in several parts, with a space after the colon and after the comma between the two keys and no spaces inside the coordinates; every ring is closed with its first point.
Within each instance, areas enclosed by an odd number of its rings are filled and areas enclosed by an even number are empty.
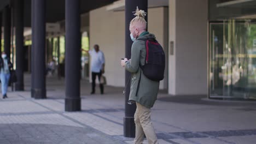
{"type": "Polygon", "coordinates": [[[210,23],[210,98],[256,98],[256,23],[210,23]]]}

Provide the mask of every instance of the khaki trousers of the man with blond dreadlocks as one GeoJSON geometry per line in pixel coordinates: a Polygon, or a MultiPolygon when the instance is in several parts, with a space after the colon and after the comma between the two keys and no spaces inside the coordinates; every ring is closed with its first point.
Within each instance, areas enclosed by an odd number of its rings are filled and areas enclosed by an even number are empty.
{"type": "Polygon", "coordinates": [[[146,135],[149,144],[157,144],[158,138],[150,119],[151,110],[139,103],[136,103],[136,105],[137,109],[134,115],[136,125],[135,144],[142,144],[144,135],[146,135]]]}

